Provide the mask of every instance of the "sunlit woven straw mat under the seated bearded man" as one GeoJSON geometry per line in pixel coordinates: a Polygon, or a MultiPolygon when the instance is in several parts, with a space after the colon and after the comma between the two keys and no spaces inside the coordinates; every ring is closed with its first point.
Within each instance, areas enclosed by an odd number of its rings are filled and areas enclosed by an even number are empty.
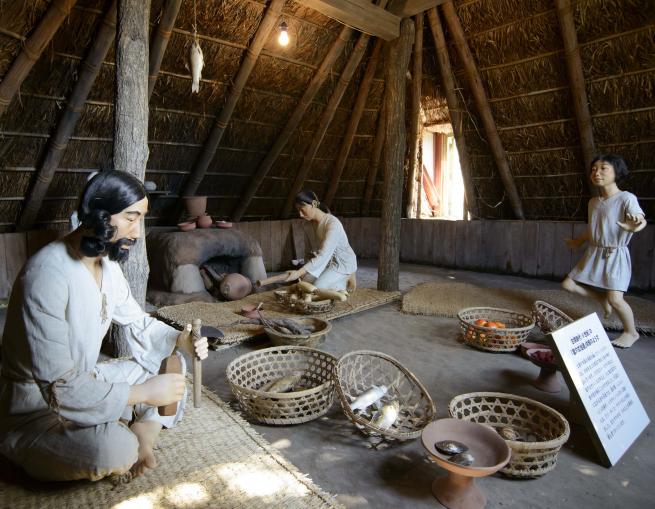
{"type": "Polygon", "coordinates": [[[156,454],[155,469],[116,487],[102,480],[28,490],[0,481],[0,507],[342,508],[204,388],[201,407],[188,402],[180,424],[162,431],[156,454]]]}

